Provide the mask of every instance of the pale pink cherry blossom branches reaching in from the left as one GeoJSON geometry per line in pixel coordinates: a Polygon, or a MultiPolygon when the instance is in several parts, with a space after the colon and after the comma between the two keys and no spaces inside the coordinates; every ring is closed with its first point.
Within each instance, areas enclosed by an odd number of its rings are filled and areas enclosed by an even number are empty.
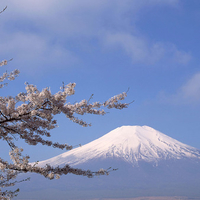
{"type": "MultiPolygon", "coordinates": [[[[1,66],[7,65],[8,61],[1,62],[1,66]]],[[[6,79],[14,80],[19,75],[19,70],[11,73],[4,73],[0,77],[0,82],[6,79]]],[[[0,88],[7,84],[3,83],[0,88]]],[[[123,109],[129,104],[121,103],[127,96],[126,92],[116,95],[105,102],[90,103],[90,100],[81,100],[71,104],[67,101],[68,97],[75,94],[75,83],[63,85],[56,94],[52,94],[50,88],[44,88],[39,91],[35,85],[25,83],[25,91],[20,92],[16,96],[3,97],[0,96],[0,139],[7,142],[11,151],[9,153],[13,163],[9,163],[0,158],[0,197],[13,198],[16,191],[4,191],[2,188],[13,186],[17,183],[14,179],[19,173],[37,173],[48,179],[58,179],[61,175],[75,174],[86,177],[97,175],[108,175],[113,169],[100,169],[92,172],[90,170],[82,170],[72,168],[69,165],[64,167],[45,167],[37,166],[29,163],[29,156],[23,156],[23,148],[18,148],[15,144],[16,139],[21,139],[29,145],[42,144],[64,150],[71,150],[72,145],[60,144],[50,139],[51,130],[58,126],[55,116],[64,114],[66,118],[83,127],[91,126],[80,119],[78,116],[84,114],[105,115],[104,109],[123,109]]]]}

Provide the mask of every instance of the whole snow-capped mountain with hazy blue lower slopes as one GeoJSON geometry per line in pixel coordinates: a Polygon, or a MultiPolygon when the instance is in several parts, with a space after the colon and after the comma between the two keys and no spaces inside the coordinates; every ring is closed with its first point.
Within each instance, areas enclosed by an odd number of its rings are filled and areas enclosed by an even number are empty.
{"type": "Polygon", "coordinates": [[[16,199],[200,199],[200,150],[148,126],[116,128],[84,146],[39,162],[40,166],[45,164],[118,170],[92,179],[69,174],[52,181],[31,174],[30,183],[20,184],[16,199]]]}

